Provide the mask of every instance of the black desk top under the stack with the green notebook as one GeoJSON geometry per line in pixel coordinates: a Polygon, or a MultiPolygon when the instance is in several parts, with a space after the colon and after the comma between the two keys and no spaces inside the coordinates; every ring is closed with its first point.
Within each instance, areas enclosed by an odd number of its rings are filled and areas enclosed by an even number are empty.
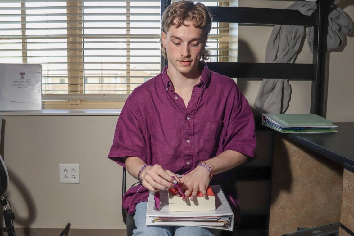
{"type": "Polygon", "coordinates": [[[354,172],[354,122],[335,125],[338,126],[338,133],[296,133],[287,137],[342,163],[354,172]]]}

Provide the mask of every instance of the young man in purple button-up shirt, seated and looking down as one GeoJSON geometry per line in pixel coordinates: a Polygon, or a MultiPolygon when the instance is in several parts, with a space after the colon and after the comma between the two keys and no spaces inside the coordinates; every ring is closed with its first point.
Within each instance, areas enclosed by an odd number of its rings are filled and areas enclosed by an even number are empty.
{"type": "Polygon", "coordinates": [[[135,235],[212,235],[200,227],[145,226],[149,190],[178,182],[190,200],[198,191],[206,197],[213,175],[222,179],[219,173],[254,157],[255,126],[247,100],[232,79],[204,63],[210,56],[205,46],[211,21],[200,3],[182,0],[167,7],[160,42],[168,67],[137,87],[119,116],[109,158],[141,183],[122,201],[129,214],[136,213],[135,235]]]}

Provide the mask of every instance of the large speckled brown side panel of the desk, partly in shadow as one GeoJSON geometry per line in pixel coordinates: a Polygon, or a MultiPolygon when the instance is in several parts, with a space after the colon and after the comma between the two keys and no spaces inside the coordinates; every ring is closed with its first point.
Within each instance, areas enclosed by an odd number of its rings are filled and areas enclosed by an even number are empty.
{"type": "Polygon", "coordinates": [[[338,222],[343,166],[277,136],[274,143],[269,236],[338,222]]]}

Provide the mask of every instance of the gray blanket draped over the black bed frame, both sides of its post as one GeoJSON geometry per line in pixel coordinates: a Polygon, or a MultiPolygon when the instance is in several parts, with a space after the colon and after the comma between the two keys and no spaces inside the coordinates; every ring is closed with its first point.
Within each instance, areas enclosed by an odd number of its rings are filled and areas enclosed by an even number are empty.
{"type": "MultiPolygon", "coordinates": [[[[331,28],[327,35],[327,44],[329,44],[329,48],[333,48],[336,45],[336,47],[338,47],[344,36],[341,33],[349,33],[352,29],[352,21],[343,10],[335,6],[333,7],[336,11],[332,11],[329,15],[329,28],[331,28]],[[348,23],[348,21],[350,21],[350,23],[348,23]]],[[[297,1],[287,7],[287,9],[297,9],[302,14],[310,16],[317,9],[317,4],[315,2],[297,1]]],[[[313,27],[312,32],[311,29],[309,29],[308,33],[308,44],[310,46],[311,44],[313,45],[313,27]]],[[[294,63],[302,40],[304,40],[304,36],[304,26],[275,25],[267,44],[265,62],[294,63]]],[[[285,113],[286,109],[289,107],[290,97],[291,86],[288,80],[263,79],[253,105],[258,113],[261,114],[285,113]]]]}

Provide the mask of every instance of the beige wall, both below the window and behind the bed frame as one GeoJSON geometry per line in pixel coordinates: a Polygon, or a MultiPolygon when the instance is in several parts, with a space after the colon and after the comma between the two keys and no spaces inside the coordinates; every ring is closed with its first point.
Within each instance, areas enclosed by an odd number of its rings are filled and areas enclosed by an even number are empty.
{"type": "MultiPolygon", "coordinates": [[[[342,0],[354,17],[354,5],[342,0]]],[[[285,8],[291,1],[240,0],[241,7],[285,8]]],[[[239,27],[239,62],[264,62],[271,27],[239,27]]],[[[354,121],[353,34],[330,53],[327,117],[354,121]]],[[[311,63],[304,45],[297,63],[311,63]]],[[[260,81],[238,81],[253,104],[260,81]]],[[[308,113],[310,82],[291,81],[288,113],[308,113]]],[[[5,116],[4,158],[16,227],[121,229],[121,167],[107,159],[116,115],[5,116]],[[80,164],[80,184],[59,183],[59,163],[80,164]]],[[[133,183],[130,179],[129,183],[133,183]]]]}

